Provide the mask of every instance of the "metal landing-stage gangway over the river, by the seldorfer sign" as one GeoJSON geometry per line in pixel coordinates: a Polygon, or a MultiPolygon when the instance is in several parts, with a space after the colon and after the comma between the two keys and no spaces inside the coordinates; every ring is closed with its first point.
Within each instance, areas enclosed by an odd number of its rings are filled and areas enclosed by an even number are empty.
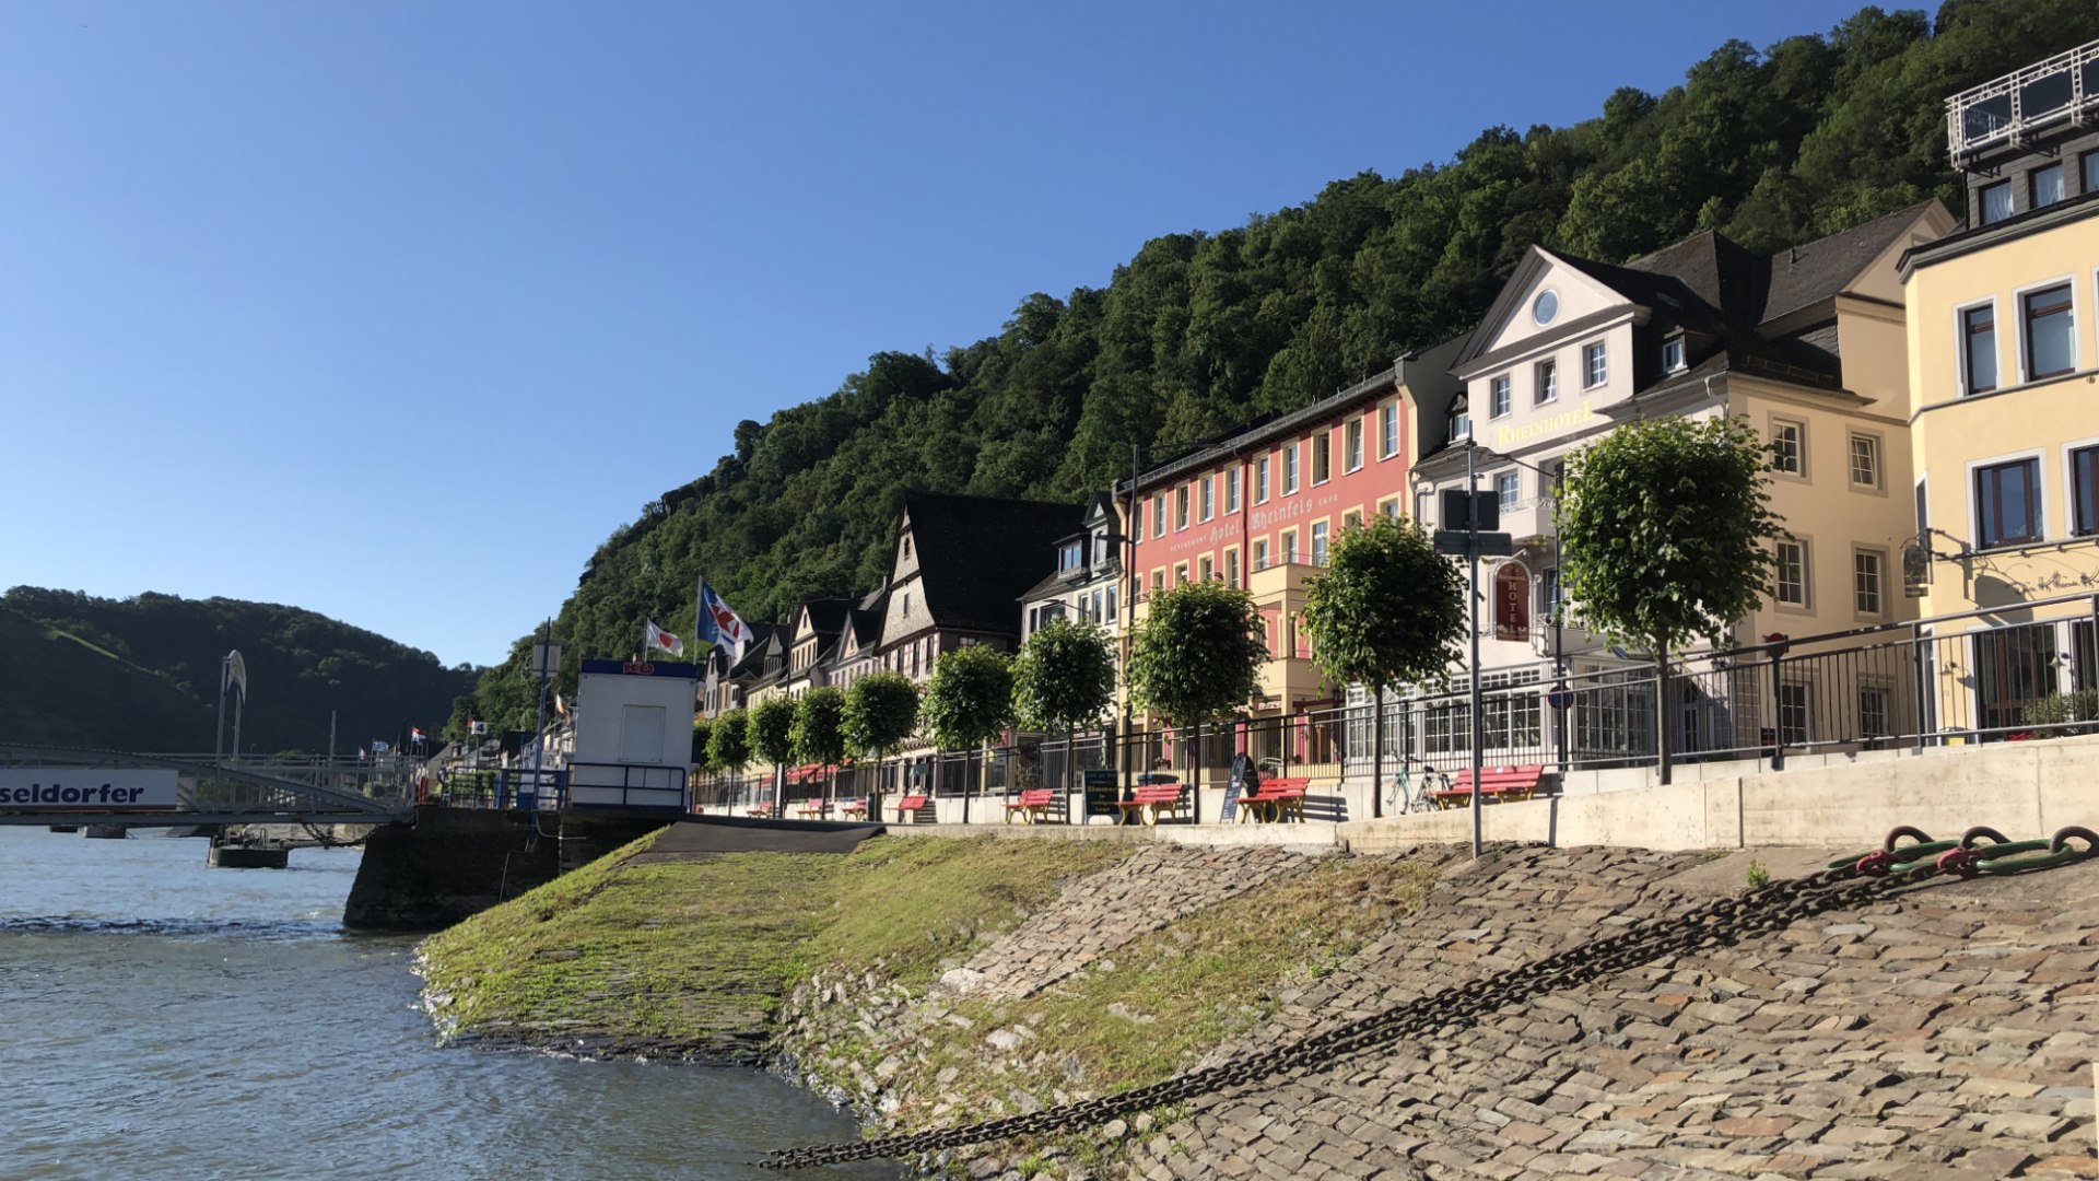
{"type": "Polygon", "coordinates": [[[124,828],[222,828],[229,824],[390,824],[416,813],[420,763],[315,759],[300,763],[214,761],[210,754],[139,754],[0,742],[0,771],[52,769],[78,775],[174,771],[164,807],[99,811],[90,805],[0,805],[4,826],[118,824],[124,828]]]}

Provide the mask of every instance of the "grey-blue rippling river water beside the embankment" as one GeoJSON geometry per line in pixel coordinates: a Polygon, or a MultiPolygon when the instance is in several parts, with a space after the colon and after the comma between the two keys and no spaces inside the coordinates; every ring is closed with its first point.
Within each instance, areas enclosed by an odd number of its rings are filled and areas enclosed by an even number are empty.
{"type": "Polygon", "coordinates": [[[756,1179],[858,1135],[762,1072],[441,1049],[414,939],[342,931],[357,851],[204,849],[0,828],[0,1179],[756,1179]]]}

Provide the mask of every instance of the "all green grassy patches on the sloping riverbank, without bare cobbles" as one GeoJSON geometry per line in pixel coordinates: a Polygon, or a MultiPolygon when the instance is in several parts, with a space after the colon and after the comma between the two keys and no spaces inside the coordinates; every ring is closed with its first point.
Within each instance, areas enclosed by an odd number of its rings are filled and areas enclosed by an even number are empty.
{"type": "MultiPolygon", "coordinates": [[[[1136,845],[882,836],[850,855],[743,853],[621,866],[636,843],[424,944],[439,1019],[464,1036],[588,1049],[760,1057],[873,1101],[884,1131],[995,1116],[1073,1093],[1169,1078],[1272,1015],[1419,908],[1434,870],[1387,857],[1322,857],[1255,893],[1138,937],[1041,994],[970,998],[903,1019],[972,946],[1136,845]],[[821,973],[793,1030],[781,996],[821,973]],[[898,988],[900,986],[900,988],[898,988]],[[873,1011],[867,1007],[873,1004],[873,1011]],[[1010,1053],[991,1030],[1026,1030],[1010,1053]]],[[[1085,889],[1083,883],[1077,889],[1085,889]]],[[[1096,1135],[995,1149],[1106,1164],[1096,1135]]]]}

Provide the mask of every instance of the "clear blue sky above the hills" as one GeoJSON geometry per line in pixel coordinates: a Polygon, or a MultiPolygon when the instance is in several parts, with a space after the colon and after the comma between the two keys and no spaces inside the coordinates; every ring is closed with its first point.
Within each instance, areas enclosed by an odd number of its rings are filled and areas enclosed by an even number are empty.
{"type": "Polygon", "coordinates": [[[493,662],[875,351],[1853,8],[6,4],[0,586],[493,662]]]}

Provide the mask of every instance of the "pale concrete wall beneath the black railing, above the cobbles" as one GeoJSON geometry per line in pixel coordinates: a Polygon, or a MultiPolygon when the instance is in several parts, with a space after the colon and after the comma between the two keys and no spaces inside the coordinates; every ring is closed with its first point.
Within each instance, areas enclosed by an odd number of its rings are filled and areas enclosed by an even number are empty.
{"type": "MultiPolygon", "coordinates": [[[[1879,845],[1910,824],[1958,836],[1988,824],[2013,838],[2068,824],[2099,826],[2099,738],[1931,750],[1900,763],[1862,761],[1776,773],[1677,782],[1482,809],[1482,838],[1639,849],[1879,845]]],[[[1354,851],[1469,841],[1469,811],[1339,826],[1354,851]]]]}

